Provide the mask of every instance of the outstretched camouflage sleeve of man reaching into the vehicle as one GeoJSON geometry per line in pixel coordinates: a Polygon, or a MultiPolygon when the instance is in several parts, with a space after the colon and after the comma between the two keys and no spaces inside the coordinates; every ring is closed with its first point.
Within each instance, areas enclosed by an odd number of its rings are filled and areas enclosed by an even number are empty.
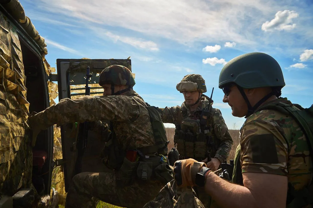
{"type": "Polygon", "coordinates": [[[58,104],[34,115],[32,120],[46,126],[84,121],[133,122],[140,115],[139,104],[128,96],[84,96],[77,99],[64,98],[58,104]]]}

